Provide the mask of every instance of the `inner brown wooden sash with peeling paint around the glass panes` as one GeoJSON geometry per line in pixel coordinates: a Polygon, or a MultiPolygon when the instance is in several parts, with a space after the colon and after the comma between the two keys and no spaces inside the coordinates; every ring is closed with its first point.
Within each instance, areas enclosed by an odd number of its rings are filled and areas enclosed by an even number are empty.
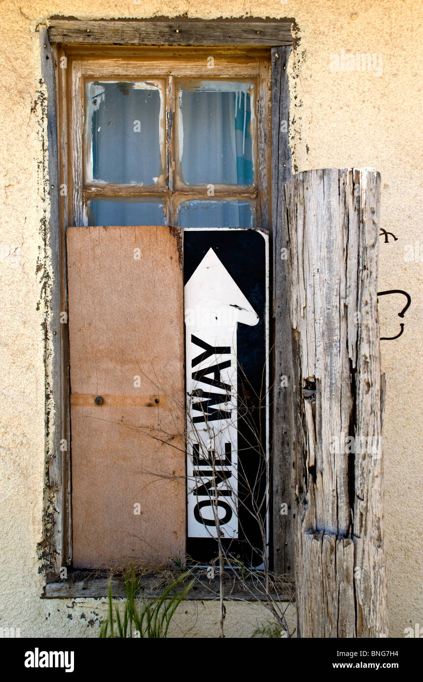
{"type": "MultiPolygon", "coordinates": [[[[236,185],[213,184],[213,196],[217,198],[247,199],[258,198],[257,213],[258,220],[255,227],[267,230],[270,223],[270,207],[268,205],[269,183],[270,183],[270,150],[266,144],[265,130],[268,128],[268,105],[270,90],[270,55],[266,55],[265,50],[234,50],[219,49],[215,54],[217,63],[210,70],[207,65],[207,57],[215,48],[192,48],[181,47],[161,48],[160,54],[157,48],[131,48],[127,55],[122,54],[121,47],[110,47],[105,54],[103,47],[94,46],[72,46],[71,48],[59,48],[59,60],[61,57],[67,59],[67,68],[62,70],[61,76],[68,74],[67,84],[64,81],[59,87],[59,97],[64,93],[71,95],[72,106],[67,106],[67,113],[72,108],[67,131],[68,139],[68,159],[66,164],[67,177],[61,181],[67,186],[67,201],[64,203],[63,216],[65,225],[84,225],[87,223],[87,216],[84,215],[83,205],[91,198],[100,196],[135,198],[148,196],[150,198],[162,198],[167,205],[167,224],[176,226],[178,205],[183,201],[190,201],[195,198],[208,198],[208,186],[185,186],[178,181],[178,173],[175,170],[175,162],[178,158],[178,140],[176,136],[176,125],[178,122],[178,106],[176,99],[178,87],[186,78],[205,78],[206,80],[253,80],[257,95],[258,106],[262,112],[262,124],[258,126],[258,159],[255,170],[256,178],[254,186],[242,187],[236,185]],[[136,50],[136,52],[134,52],[136,50]],[[181,50],[183,50],[181,52],[181,50]],[[175,54],[176,52],[176,54],[175,54]],[[62,55],[63,53],[63,55],[62,55]],[[171,75],[169,75],[171,73],[171,75]],[[70,74],[70,76],[69,76],[70,74]],[[228,75],[230,74],[230,76],[228,75]],[[168,157],[169,169],[169,188],[164,186],[130,186],[119,185],[118,183],[99,183],[95,181],[87,182],[87,169],[84,162],[87,158],[85,134],[80,125],[80,111],[84,106],[83,87],[93,79],[110,80],[111,78],[157,78],[169,80],[169,87],[166,97],[170,102],[166,102],[168,108],[168,122],[166,128],[170,134],[170,140],[166,139],[166,156],[168,157]],[[174,121],[172,121],[172,114],[174,121]],[[78,188],[78,190],[76,190],[78,188]],[[82,201],[79,188],[82,188],[82,201]]],[[[65,102],[63,102],[63,111],[65,102]]],[[[64,118],[64,117],[63,117],[64,118]]],[[[61,129],[63,119],[58,120],[58,128],[61,129]]],[[[85,121],[87,125],[87,121],[85,121]]],[[[64,131],[63,131],[64,133],[64,131]]],[[[65,149],[61,149],[62,153],[65,149]]],[[[62,182],[61,182],[62,183],[62,182]]]]}

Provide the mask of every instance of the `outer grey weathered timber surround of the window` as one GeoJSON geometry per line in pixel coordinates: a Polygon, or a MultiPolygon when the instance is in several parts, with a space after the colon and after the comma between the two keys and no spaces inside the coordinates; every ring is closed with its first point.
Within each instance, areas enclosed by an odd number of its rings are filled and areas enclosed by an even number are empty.
{"type": "MultiPolygon", "coordinates": [[[[69,139],[66,108],[63,100],[66,50],[81,46],[210,46],[234,48],[268,48],[271,60],[271,225],[273,244],[273,325],[275,343],[272,427],[272,559],[275,572],[294,576],[294,534],[292,514],[281,516],[281,503],[293,509],[294,469],[290,454],[289,409],[287,393],[279,389],[281,374],[289,374],[287,349],[291,344],[288,306],[285,291],[283,262],[276,257],[277,226],[281,220],[282,190],[291,177],[289,149],[289,89],[287,61],[292,50],[293,20],[131,20],[83,21],[50,20],[40,29],[42,75],[47,89],[48,114],[48,177],[50,183],[50,249],[52,258],[52,286],[50,318],[46,330],[46,357],[52,357],[52,379],[46,391],[46,453],[48,481],[45,490],[44,539],[40,554],[47,574],[46,597],[69,597],[69,581],[59,580],[61,567],[72,564],[72,518],[69,449],[69,340],[63,324],[67,310],[67,280],[65,260],[65,230],[69,222],[67,201],[63,194],[72,196],[65,187],[68,168],[65,162],[69,139]],[[62,93],[60,96],[59,93],[62,93]],[[58,125],[59,123],[59,125],[58,125]],[[64,153],[59,154],[59,147],[64,153]],[[65,190],[63,188],[65,187],[65,190]],[[283,353],[283,357],[282,357],[283,353]],[[52,408],[54,417],[51,417],[52,408]]],[[[129,48],[130,49],[130,48],[129,48]]],[[[268,140],[263,140],[268,144],[268,140]]],[[[75,223],[76,224],[76,223],[75,223]]],[[[80,223],[81,224],[81,223],[80,223]]],[[[75,576],[78,578],[78,576],[75,576]]],[[[84,578],[84,576],[80,576],[84,578]]],[[[80,580],[73,583],[72,596],[103,596],[105,586],[80,580]]],[[[194,595],[193,595],[194,596],[194,595]]],[[[213,596],[197,591],[195,597],[213,596]]],[[[245,594],[243,595],[245,598],[245,594]]]]}

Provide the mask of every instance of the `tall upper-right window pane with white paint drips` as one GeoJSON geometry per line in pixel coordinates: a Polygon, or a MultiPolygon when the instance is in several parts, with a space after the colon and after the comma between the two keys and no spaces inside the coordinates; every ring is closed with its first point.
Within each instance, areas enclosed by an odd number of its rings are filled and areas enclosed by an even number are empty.
{"type": "Polygon", "coordinates": [[[181,87],[177,144],[185,184],[254,184],[254,92],[253,83],[224,80],[181,87]]]}

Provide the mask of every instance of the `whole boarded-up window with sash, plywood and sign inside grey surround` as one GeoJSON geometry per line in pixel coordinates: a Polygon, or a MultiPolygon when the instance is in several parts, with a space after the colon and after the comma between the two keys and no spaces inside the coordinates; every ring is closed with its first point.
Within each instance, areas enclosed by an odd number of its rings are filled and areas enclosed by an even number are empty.
{"type": "MultiPolygon", "coordinates": [[[[163,565],[186,550],[194,560],[211,561],[221,532],[210,533],[213,509],[232,509],[221,515],[223,536],[246,563],[260,565],[267,552],[269,57],[265,50],[237,50],[215,60],[209,48],[172,59],[157,52],[136,60],[104,57],[95,50],[69,56],[73,192],[64,206],[74,225],[67,229],[74,567],[163,565]],[[232,247],[223,237],[231,229],[238,235],[232,247]],[[255,240],[251,229],[261,233],[255,240]],[[249,295],[253,321],[237,312],[225,344],[207,337],[210,347],[233,346],[231,359],[223,359],[233,365],[231,376],[239,375],[232,409],[226,384],[206,376],[201,359],[185,372],[184,251],[194,242],[185,284],[211,250],[221,291],[234,295],[223,305],[238,310],[249,295]],[[243,366],[232,343],[238,321],[245,329],[257,325],[248,342],[245,331],[238,340],[243,366]],[[195,388],[189,388],[192,373],[195,388]],[[241,408],[246,424],[250,419],[239,441],[242,456],[235,437],[223,443],[225,455],[213,445],[217,461],[230,462],[233,486],[220,481],[210,507],[204,499],[210,466],[200,464],[200,482],[191,481],[201,458],[191,466],[198,443],[185,442],[185,402],[193,398],[198,409],[208,405],[207,396],[214,402],[205,428],[215,427],[216,410],[233,420],[232,431],[241,408]],[[193,490],[198,499],[190,506],[193,490]],[[253,496],[260,497],[256,520],[253,496]],[[187,522],[187,513],[197,514],[204,528],[198,519],[187,522]],[[213,548],[205,542],[210,537],[213,548]]],[[[204,443],[215,444],[207,435],[204,443]]]]}

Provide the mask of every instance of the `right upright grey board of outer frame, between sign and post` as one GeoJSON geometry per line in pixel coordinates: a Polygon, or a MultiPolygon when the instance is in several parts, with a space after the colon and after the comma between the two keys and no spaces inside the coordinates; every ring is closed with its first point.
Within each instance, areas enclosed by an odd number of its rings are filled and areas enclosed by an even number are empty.
{"type": "Polygon", "coordinates": [[[275,373],[273,388],[273,567],[294,580],[294,360],[287,301],[282,225],[284,184],[291,177],[289,84],[287,63],[292,48],[272,49],[272,247],[275,373]],[[285,123],[283,123],[285,121],[285,123]],[[286,379],[283,379],[286,377],[286,379]],[[287,385],[283,385],[287,383],[287,385]],[[287,514],[283,514],[287,505],[287,514]]]}

